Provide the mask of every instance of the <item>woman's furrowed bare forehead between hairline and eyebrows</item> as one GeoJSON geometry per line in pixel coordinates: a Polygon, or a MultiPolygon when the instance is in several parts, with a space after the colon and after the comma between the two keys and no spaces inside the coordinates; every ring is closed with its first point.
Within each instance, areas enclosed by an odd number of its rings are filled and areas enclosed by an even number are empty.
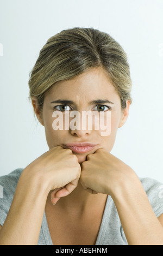
{"type": "Polygon", "coordinates": [[[95,99],[118,97],[108,75],[102,68],[92,68],[76,78],[57,82],[48,92],[49,98],[95,99]]]}

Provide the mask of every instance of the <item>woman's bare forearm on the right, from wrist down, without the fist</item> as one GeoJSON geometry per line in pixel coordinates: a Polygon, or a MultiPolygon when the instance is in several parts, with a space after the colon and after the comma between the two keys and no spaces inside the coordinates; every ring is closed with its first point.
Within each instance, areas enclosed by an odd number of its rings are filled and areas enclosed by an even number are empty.
{"type": "Polygon", "coordinates": [[[163,245],[163,228],[139,178],[112,194],[129,245],[163,245]]]}

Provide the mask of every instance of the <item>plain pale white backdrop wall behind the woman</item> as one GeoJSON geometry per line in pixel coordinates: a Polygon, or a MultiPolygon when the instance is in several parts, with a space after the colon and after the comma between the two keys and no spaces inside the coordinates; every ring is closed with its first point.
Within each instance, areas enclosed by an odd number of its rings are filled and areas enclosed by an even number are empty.
{"type": "Polygon", "coordinates": [[[163,182],[163,0],[0,0],[0,175],[48,150],[28,100],[29,72],[52,35],[72,27],[109,33],[127,52],[133,104],[112,154],[163,182]],[[3,55],[3,56],[2,56],[3,55]]]}

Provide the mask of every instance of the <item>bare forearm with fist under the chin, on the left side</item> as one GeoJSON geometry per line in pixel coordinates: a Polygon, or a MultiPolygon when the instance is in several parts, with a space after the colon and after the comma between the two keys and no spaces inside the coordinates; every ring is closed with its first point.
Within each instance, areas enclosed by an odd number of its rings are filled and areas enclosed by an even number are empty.
{"type": "Polygon", "coordinates": [[[0,230],[0,245],[37,245],[49,192],[64,187],[65,195],[71,193],[77,187],[80,170],[77,157],[60,146],[29,164],[20,176],[0,230]]]}

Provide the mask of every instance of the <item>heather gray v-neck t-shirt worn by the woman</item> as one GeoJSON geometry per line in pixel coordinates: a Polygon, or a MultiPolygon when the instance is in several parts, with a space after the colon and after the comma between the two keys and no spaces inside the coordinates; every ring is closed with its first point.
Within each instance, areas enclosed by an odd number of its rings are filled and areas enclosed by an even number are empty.
{"type": "MultiPolygon", "coordinates": [[[[0,225],[8,215],[18,179],[23,169],[0,177],[0,225]]],[[[140,178],[156,217],[163,213],[163,184],[152,178],[140,178]]],[[[91,224],[91,223],[90,223],[91,224]]],[[[38,245],[53,245],[44,212],[38,245]]],[[[128,245],[114,201],[108,195],[96,245],[128,245]]]]}

